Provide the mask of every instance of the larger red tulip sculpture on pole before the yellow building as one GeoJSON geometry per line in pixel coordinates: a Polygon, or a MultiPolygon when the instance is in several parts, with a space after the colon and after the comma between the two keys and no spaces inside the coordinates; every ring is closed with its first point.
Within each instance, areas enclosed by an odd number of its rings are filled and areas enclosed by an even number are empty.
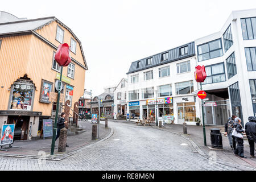
{"type": "Polygon", "coordinates": [[[57,52],[55,53],[54,59],[60,67],[67,67],[68,64],[71,63],[71,58],[69,56],[69,46],[67,43],[60,44],[57,52]]]}

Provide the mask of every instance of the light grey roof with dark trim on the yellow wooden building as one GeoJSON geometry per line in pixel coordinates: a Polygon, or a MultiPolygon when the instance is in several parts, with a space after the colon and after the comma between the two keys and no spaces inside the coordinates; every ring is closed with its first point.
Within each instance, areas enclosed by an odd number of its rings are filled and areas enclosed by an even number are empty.
{"type": "Polygon", "coordinates": [[[55,16],[50,16],[46,18],[38,18],[38,19],[29,19],[29,20],[20,20],[15,22],[5,22],[0,23],[0,36],[12,35],[12,34],[20,34],[20,33],[29,33],[35,32],[36,30],[42,29],[44,26],[47,26],[49,23],[56,21],[57,23],[61,24],[64,28],[66,28],[73,37],[79,43],[81,48],[82,57],[84,59],[85,68],[88,69],[88,65],[86,64],[84,51],[82,49],[82,44],[77,36],[72,32],[72,30],[65,26],[59,19],[55,16]]]}

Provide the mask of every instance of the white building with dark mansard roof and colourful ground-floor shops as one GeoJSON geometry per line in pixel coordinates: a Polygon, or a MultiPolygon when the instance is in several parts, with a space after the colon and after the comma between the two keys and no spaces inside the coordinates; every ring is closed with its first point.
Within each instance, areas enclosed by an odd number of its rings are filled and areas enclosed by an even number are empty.
{"type": "Polygon", "coordinates": [[[127,73],[127,113],[131,118],[155,119],[188,125],[200,117],[198,89],[193,78],[195,43],[131,63],[127,73]]]}

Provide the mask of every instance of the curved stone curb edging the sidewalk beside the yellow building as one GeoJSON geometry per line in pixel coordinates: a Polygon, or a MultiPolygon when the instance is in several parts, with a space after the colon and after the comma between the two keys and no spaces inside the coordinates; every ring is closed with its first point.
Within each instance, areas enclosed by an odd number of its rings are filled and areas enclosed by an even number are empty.
{"type": "Polygon", "coordinates": [[[12,155],[12,154],[0,154],[1,156],[5,156],[5,157],[10,157],[10,158],[26,158],[26,159],[40,159],[40,160],[53,160],[53,161],[60,161],[63,160],[65,158],[68,158],[69,156],[73,155],[73,154],[77,154],[78,152],[81,152],[82,150],[84,150],[86,147],[92,146],[93,144],[96,144],[98,142],[102,142],[110,137],[112,137],[112,135],[114,134],[114,129],[110,128],[110,134],[108,136],[106,136],[105,138],[102,139],[98,139],[96,140],[96,142],[87,144],[86,146],[82,146],[79,149],[72,151],[72,152],[68,152],[68,153],[63,153],[63,154],[54,154],[53,156],[51,155],[47,155],[46,158],[42,158],[36,155],[12,155]]]}

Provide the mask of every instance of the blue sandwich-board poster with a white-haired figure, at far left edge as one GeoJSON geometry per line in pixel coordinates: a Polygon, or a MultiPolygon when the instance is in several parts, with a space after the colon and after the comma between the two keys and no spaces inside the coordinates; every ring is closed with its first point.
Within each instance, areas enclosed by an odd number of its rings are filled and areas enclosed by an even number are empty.
{"type": "Polygon", "coordinates": [[[15,124],[2,125],[0,146],[13,143],[15,124]]]}

